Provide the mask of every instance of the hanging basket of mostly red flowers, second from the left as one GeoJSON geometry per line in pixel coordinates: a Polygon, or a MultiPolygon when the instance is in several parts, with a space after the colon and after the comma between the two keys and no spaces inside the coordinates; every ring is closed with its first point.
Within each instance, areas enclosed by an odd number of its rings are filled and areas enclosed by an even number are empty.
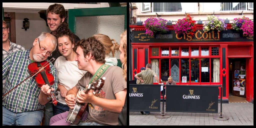
{"type": "Polygon", "coordinates": [[[178,19],[174,30],[176,34],[186,34],[189,33],[191,36],[194,36],[196,31],[195,20],[189,14],[186,15],[183,19],[178,19]]]}

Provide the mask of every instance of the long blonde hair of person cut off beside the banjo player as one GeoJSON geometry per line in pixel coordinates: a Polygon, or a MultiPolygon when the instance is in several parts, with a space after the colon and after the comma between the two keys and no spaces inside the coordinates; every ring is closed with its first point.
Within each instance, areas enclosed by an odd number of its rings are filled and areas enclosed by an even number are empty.
{"type": "Polygon", "coordinates": [[[124,63],[122,64],[123,67],[123,76],[125,81],[127,76],[126,76],[126,72],[127,72],[127,30],[125,30],[121,35],[121,40],[120,40],[120,45],[123,44],[123,48],[124,48],[124,63]]]}

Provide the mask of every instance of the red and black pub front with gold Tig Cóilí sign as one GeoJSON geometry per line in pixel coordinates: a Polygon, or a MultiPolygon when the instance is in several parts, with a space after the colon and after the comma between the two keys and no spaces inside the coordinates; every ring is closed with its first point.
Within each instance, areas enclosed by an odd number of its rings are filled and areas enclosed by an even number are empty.
{"type": "Polygon", "coordinates": [[[222,103],[230,102],[229,95],[253,103],[253,36],[233,30],[231,24],[220,32],[204,32],[202,24],[195,25],[194,37],[175,34],[174,25],[154,36],[145,34],[143,25],[130,25],[132,80],[151,63],[164,84],[171,76],[176,85],[222,85],[222,103]]]}

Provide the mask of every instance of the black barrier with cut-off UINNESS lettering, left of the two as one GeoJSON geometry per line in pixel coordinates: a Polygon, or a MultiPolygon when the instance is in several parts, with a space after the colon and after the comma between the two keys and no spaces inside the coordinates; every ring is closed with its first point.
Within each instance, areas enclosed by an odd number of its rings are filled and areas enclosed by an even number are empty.
{"type": "Polygon", "coordinates": [[[129,110],[160,112],[160,85],[130,84],[129,110]]]}

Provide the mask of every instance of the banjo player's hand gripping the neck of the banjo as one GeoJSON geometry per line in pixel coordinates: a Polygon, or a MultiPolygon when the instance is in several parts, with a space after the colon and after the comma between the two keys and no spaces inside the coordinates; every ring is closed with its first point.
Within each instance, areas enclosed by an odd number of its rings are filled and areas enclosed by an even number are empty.
{"type": "MultiPolygon", "coordinates": [[[[86,85],[86,88],[88,85],[86,85]]],[[[93,93],[92,90],[89,90],[88,93],[85,93],[84,91],[80,91],[77,93],[77,101],[78,103],[91,103],[93,101],[93,93]]]]}

